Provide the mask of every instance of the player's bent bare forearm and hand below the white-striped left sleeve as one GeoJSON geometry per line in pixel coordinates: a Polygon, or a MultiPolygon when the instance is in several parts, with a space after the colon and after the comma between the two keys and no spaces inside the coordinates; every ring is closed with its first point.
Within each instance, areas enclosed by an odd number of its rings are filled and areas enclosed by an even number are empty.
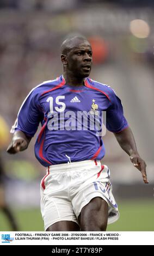
{"type": "Polygon", "coordinates": [[[29,142],[32,137],[28,137],[22,131],[15,131],[12,141],[9,144],[7,152],[9,154],[16,154],[28,148],[29,142]]]}

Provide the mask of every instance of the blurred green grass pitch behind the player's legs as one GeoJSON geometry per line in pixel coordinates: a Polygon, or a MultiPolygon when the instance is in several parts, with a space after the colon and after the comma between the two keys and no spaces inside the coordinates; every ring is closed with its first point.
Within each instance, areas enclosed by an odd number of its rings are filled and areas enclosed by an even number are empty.
{"type": "MultiPolygon", "coordinates": [[[[109,224],[107,231],[154,231],[154,199],[118,202],[120,218],[109,224]]],[[[14,210],[22,231],[43,231],[44,224],[39,209],[14,210]]],[[[10,230],[8,221],[0,210],[0,231],[10,230]]],[[[19,230],[19,231],[20,231],[19,230]]]]}

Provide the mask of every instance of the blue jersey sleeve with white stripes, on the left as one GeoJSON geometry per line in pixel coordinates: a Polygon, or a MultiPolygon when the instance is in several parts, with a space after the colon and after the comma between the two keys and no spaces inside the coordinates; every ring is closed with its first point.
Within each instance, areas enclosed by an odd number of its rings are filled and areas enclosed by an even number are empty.
{"type": "Polygon", "coordinates": [[[14,129],[11,129],[12,133],[20,130],[29,137],[35,135],[39,123],[42,120],[42,113],[39,109],[37,98],[38,96],[34,90],[32,93],[28,94],[21,105],[14,129]]]}

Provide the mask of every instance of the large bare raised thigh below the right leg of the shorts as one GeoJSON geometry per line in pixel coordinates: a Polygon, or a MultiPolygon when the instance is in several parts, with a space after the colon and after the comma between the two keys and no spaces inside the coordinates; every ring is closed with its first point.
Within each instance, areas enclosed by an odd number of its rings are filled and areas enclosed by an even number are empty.
{"type": "Polygon", "coordinates": [[[81,230],[106,230],[108,222],[108,204],[106,200],[101,197],[91,199],[90,202],[82,208],[78,222],[81,230]]]}

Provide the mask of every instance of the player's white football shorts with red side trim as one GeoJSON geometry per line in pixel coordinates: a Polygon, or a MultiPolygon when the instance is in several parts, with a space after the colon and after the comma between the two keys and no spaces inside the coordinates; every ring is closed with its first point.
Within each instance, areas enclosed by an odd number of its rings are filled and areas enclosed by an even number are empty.
{"type": "Polygon", "coordinates": [[[110,171],[100,161],[87,160],[48,167],[41,180],[41,214],[45,230],[58,221],[78,224],[82,208],[94,197],[108,203],[108,224],[119,218],[118,205],[112,194],[110,171]]]}

